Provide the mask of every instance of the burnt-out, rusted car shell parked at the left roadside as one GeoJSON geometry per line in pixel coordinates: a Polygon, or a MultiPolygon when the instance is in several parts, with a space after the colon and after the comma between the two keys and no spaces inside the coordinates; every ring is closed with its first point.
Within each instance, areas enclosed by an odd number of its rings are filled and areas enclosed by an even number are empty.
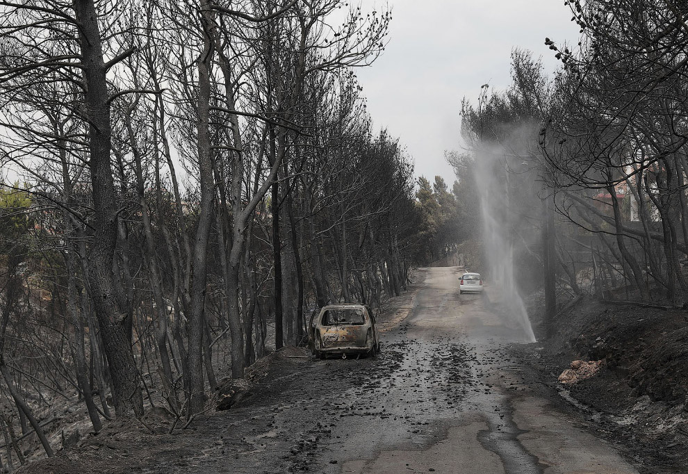
{"type": "Polygon", "coordinates": [[[365,304],[331,304],[311,316],[309,345],[313,354],[375,354],[379,337],[375,316],[365,304]]]}

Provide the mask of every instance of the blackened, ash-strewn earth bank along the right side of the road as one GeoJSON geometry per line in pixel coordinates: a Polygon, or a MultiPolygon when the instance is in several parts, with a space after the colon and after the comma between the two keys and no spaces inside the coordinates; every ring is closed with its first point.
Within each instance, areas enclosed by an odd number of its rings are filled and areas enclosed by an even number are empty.
{"type": "Polygon", "coordinates": [[[626,446],[647,473],[685,471],[688,459],[688,312],[583,297],[557,315],[551,338],[516,349],[584,412],[591,429],[626,446]],[[575,383],[572,361],[601,361],[575,383]]]}

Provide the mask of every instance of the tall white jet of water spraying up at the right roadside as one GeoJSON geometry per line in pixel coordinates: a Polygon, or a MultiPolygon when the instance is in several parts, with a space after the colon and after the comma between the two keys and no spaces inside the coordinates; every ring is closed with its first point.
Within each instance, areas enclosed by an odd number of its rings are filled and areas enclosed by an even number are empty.
{"type": "Polygon", "coordinates": [[[536,162],[527,149],[533,129],[531,125],[513,129],[506,142],[480,143],[472,152],[482,217],[483,272],[495,289],[492,296],[505,309],[505,322],[527,343],[536,338],[523,293],[539,286],[540,276],[532,271],[541,235],[536,162]]]}

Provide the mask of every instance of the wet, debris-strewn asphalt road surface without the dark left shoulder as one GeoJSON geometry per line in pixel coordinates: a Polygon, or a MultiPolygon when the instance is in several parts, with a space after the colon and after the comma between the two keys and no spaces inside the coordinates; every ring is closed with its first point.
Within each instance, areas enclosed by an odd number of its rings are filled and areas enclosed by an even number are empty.
{"type": "Polygon", "coordinates": [[[532,393],[504,350],[525,338],[522,330],[487,311],[481,295],[459,296],[459,275],[429,269],[411,316],[388,334],[403,358],[380,401],[404,414],[407,430],[381,420],[379,437],[364,443],[354,430],[345,439],[374,452],[352,456],[349,447],[341,472],[637,473],[557,411],[559,400],[532,393]]]}

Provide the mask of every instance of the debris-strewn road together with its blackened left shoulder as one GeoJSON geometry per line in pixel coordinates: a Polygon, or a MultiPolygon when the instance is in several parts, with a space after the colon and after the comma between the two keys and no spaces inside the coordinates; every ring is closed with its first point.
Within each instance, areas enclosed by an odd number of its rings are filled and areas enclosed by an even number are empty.
{"type": "Polygon", "coordinates": [[[199,422],[196,441],[156,448],[136,471],[637,473],[557,395],[532,388],[505,348],[520,331],[480,295],[459,296],[457,268],[423,274],[379,356],[293,359],[242,407],[199,422]]]}

